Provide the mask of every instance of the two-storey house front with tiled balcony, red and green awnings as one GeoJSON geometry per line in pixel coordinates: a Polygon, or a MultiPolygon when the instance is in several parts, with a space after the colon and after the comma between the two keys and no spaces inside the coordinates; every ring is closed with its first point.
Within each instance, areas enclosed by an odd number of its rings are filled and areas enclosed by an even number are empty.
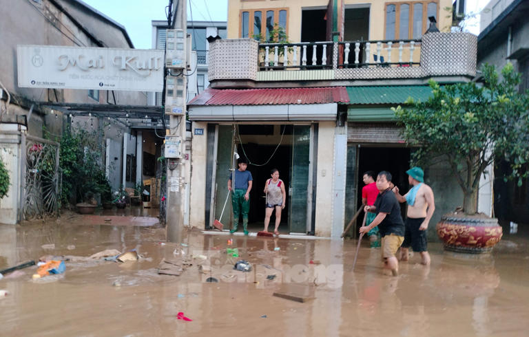
{"type": "MultiPolygon", "coordinates": [[[[219,219],[236,152],[254,177],[254,228],[264,218],[264,182],[278,168],[287,186],[280,231],[338,238],[360,206],[362,173],[390,171],[408,188],[413,149],[391,107],[427,98],[429,79],[473,78],[476,36],[449,33],[450,0],[228,6],[228,39],[209,46],[209,89],[189,102],[200,130],[191,153],[191,223],[209,228],[219,219]],[[428,17],[441,32],[425,34],[428,17]]],[[[435,224],[462,195],[446,166],[428,167],[426,176],[437,197],[435,224]]],[[[227,226],[230,213],[220,219],[227,226]]]]}

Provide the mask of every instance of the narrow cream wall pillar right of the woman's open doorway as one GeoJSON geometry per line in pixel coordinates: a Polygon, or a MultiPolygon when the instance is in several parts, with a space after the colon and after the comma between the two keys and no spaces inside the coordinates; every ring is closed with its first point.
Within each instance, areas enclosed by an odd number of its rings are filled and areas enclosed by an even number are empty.
{"type": "Polygon", "coordinates": [[[318,175],[315,236],[330,237],[333,218],[333,159],[335,122],[318,124],[318,175]]]}

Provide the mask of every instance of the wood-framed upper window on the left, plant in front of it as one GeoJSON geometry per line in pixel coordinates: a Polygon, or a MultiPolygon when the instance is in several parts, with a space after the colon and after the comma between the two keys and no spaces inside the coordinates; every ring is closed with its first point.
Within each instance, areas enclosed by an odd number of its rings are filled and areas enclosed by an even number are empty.
{"type": "Polygon", "coordinates": [[[270,32],[278,25],[287,32],[287,8],[269,8],[266,10],[241,10],[240,34],[242,38],[251,37],[258,40],[269,40],[270,32]]]}

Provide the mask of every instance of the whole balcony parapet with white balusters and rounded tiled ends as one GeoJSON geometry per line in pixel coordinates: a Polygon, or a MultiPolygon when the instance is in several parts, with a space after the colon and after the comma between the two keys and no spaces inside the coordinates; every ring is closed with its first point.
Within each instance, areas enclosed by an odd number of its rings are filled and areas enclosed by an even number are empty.
{"type": "Polygon", "coordinates": [[[295,82],[472,77],[476,54],[477,37],[463,32],[396,41],[260,44],[254,39],[218,39],[209,45],[208,78],[295,82]]]}

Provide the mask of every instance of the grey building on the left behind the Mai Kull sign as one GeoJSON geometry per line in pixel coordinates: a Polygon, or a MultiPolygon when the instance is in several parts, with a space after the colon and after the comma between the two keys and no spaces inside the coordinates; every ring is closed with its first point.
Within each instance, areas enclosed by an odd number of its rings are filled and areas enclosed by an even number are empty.
{"type": "MultiPolygon", "coordinates": [[[[2,160],[8,165],[11,178],[8,196],[0,200],[1,221],[16,223],[30,202],[23,197],[28,192],[24,187],[28,179],[24,165],[30,153],[23,152],[26,144],[21,142],[25,139],[30,144],[32,138],[37,148],[39,144],[48,144],[42,141],[44,129],[52,140],[60,139],[68,125],[94,131],[100,135],[101,164],[106,167],[112,187],[136,185],[132,173],[137,170],[132,162],[136,163],[137,140],[129,127],[132,116],[126,118],[125,112],[116,113],[111,120],[98,113],[89,115],[86,109],[78,114],[76,109],[95,105],[109,109],[119,105],[145,106],[147,93],[36,89],[19,87],[17,81],[20,67],[17,65],[17,45],[134,48],[123,25],[78,0],[1,0],[0,6],[4,11],[0,21],[0,142],[2,160]]],[[[58,146],[54,142],[49,145],[58,146]]]]}

